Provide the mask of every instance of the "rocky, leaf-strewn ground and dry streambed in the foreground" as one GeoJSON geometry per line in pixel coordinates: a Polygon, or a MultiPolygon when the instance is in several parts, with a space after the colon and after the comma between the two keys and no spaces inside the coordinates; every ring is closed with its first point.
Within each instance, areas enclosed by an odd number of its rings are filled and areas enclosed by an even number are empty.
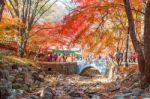
{"type": "Polygon", "coordinates": [[[137,65],[121,66],[108,79],[94,71],[46,74],[30,63],[0,63],[0,99],[150,99],[150,88],[140,88],[137,65]]]}

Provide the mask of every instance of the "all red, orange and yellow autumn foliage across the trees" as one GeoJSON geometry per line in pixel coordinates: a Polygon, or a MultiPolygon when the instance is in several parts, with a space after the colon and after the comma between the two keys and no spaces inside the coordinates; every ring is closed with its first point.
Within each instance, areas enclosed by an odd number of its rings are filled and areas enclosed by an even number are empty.
{"type": "MultiPolygon", "coordinates": [[[[80,44],[85,55],[99,55],[101,52],[114,53],[116,48],[125,48],[125,35],[128,30],[122,0],[72,2],[77,7],[64,17],[63,22],[41,22],[32,26],[26,49],[47,49],[53,45],[72,47],[80,44]]],[[[142,1],[132,0],[131,6],[137,24],[137,36],[141,40],[142,1]]],[[[12,21],[10,17],[3,17],[0,24],[1,34],[15,35],[18,26],[23,26],[19,19],[14,18],[12,21]]]]}

